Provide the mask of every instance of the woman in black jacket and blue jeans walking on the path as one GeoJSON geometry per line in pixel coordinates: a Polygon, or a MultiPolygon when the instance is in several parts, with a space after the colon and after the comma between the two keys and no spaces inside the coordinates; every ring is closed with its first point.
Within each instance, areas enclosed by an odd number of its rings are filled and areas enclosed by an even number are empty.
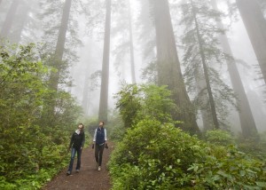
{"type": "Polygon", "coordinates": [[[82,148],[84,146],[84,142],[85,142],[84,125],[82,123],[79,123],[78,129],[74,131],[74,133],[72,134],[69,144],[69,149],[71,150],[71,159],[68,170],[66,172],[66,176],[69,176],[72,172],[75,153],[77,153],[77,163],[75,171],[76,172],[80,171],[82,148]]]}

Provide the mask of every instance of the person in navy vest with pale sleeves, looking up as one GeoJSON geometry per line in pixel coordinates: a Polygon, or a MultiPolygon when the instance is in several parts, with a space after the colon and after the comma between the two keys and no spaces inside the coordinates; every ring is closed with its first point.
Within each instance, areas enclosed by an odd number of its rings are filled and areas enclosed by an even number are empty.
{"type": "Polygon", "coordinates": [[[93,137],[92,149],[95,147],[95,160],[97,162],[98,170],[101,170],[104,148],[108,148],[104,124],[104,122],[98,124],[98,128],[95,130],[93,137]]]}

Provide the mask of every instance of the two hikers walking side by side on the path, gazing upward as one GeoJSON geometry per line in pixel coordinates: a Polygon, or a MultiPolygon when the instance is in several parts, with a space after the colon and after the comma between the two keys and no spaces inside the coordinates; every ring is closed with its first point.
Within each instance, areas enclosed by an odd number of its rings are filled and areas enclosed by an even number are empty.
{"type": "MultiPolygon", "coordinates": [[[[98,170],[101,170],[102,158],[104,148],[108,148],[107,146],[107,138],[106,138],[106,129],[104,128],[104,122],[100,122],[98,124],[98,128],[94,132],[93,136],[93,144],[92,149],[95,148],[95,160],[97,162],[98,170]]],[[[78,129],[74,131],[69,149],[71,150],[71,159],[69,162],[68,170],[66,172],[66,176],[71,175],[73,170],[74,156],[77,154],[77,163],[75,171],[79,172],[81,169],[81,157],[82,157],[82,148],[85,142],[85,134],[84,134],[84,125],[82,123],[78,124],[78,129]]]]}

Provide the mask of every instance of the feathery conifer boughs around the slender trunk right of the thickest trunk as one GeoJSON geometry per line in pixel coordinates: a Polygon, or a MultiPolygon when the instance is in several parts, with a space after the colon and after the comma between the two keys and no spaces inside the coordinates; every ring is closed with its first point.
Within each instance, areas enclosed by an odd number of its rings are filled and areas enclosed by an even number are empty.
{"type": "Polygon", "coordinates": [[[185,2],[181,4],[181,9],[181,24],[184,25],[184,78],[188,91],[194,95],[193,103],[199,110],[206,110],[208,115],[217,115],[219,124],[228,126],[227,116],[231,106],[237,108],[237,105],[234,91],[223,81],[221,72],[225,61],[232,59],[223,52],[218,40],[225,32],[217,25],[224,14],[215,11],[207,0],[185,2]],[[210,83],[209,87],[207,83],[210,83]],[[210,94],[214,97],[215,105],[212,107],[215,107],[215,113],[209,111],[211,100],[207,97],[210,94]]]}

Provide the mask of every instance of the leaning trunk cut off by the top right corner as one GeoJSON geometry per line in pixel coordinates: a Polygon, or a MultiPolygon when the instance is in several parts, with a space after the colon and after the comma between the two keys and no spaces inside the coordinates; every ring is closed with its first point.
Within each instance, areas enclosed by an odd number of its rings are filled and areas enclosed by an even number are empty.
{"type": "Polygon", "coordinates": [[[237,5],[266,83],[266,20],[257,1],[237,0],[237,5]]]}

